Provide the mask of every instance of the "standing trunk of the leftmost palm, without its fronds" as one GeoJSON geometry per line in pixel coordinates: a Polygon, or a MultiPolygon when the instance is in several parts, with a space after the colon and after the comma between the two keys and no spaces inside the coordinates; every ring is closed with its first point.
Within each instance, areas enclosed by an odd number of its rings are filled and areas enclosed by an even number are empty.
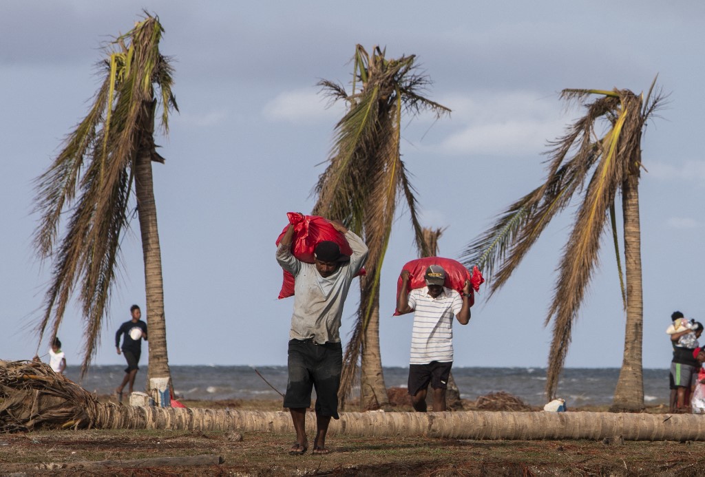
{"type": "Polygon", "coordinates": [[[152,378],[168,378],[171,383],[168,357],[166,354],[166,320],[164,318],[164,286],[161,278],[161,248],[157,228],[157,204],[154,202],[152,181],[152,132],[154,129],[154,106],[146,104],[151,113],[146,114],[144,140],[137,150],[135,164],[135,193],[137,214],[142,234],[142,254],[145,260],[145,294],[147,299],[147,337],[149,343],[149,364],[147,368],[147,388],[152,378]],[[151,144],[151,145],[150,145],[151,144]]]}

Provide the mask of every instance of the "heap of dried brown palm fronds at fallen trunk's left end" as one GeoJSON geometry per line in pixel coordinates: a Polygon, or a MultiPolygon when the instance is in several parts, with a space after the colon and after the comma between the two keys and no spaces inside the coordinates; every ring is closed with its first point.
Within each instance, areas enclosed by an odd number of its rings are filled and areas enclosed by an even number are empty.
{"type": "Polygon", "coordinates": [[[85,428],[98,399],[37,361],[0,361],[0,432],[85,428]]]}

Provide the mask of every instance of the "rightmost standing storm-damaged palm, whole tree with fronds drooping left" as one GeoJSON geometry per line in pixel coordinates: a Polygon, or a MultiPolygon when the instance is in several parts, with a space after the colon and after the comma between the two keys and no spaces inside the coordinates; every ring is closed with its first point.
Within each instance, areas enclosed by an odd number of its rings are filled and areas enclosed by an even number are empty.
{"type": "Polygon", "coordinates": [[[575,195],[582,195],[545,321],[546,325],[553,321],[546,381],[548,399],[556,395],[572,326],[598,264],[601,238],[610,224],[626,312],[624,360],[613,410],[644,408],[639,173],[643,167],[642,132],[663,98],[661,94],[651,98],[655,83],[656,79],[646,99],[628,89],[564,89],[561,97],[579,101],[587,112],[565,136],[552,143],[546,181],[509,206],[465,252],[466,265],[477,264],[490,275],[491,296],[506,283],[551,219],[575,195]],[[597,98],[585,104],[588,97],[597,98]],[[622,199],[626,290],[615,219],[618,194],[622,199]]]}

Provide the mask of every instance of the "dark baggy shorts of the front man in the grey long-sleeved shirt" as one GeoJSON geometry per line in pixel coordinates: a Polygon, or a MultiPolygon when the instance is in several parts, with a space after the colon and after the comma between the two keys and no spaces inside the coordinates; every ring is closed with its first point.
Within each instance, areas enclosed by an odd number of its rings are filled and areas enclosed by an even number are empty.
{"type": "Polygon", "coordinates": [[[290,340],[288,354],[289,380],[286,383],[284,407],[310,407],[311,391],[315,388],[316,413],[338,419],[343,345],[317,345],[312,340],[290,340]]]}

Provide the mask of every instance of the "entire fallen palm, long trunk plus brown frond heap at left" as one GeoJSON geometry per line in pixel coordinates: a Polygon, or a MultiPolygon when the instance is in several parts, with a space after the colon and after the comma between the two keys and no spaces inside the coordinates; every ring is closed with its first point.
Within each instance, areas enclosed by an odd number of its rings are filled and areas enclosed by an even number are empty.
{"type": "MultiPolygon", "coordinates": [[[[238,430],[291,433],[288,412],[180,409],[99,403],[49,366],[0,361],[0,430],[37,428],[238,430]]],[[[307,432],[315,431],[311,413],[307,432]]],[[[344,412],[330,435],[456,439],[705,440],[705,416],[608,412],[344,412]]]]}

